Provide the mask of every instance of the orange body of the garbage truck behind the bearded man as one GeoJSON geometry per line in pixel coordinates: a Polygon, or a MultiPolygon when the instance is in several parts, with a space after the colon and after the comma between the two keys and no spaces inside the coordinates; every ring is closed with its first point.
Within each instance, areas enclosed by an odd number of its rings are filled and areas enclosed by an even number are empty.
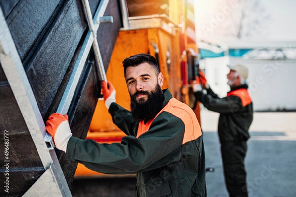
{"type": "MultiPolygon", "coordinates": [[[[116,89],[116,102],[130,109],[130,95],[124,79],[122,61],[138,53],[148,53],[158,61],[164,75],[163,88],[178,100],[193,107],[189,82],[198,69],[195,43],[194,7],[190,0],[127,0],[123,3],[123,28],[120,28],[106,71],[116,89]]],[[[199,105],[194,109],[198,120],[199,105]]],[[[86,136],[99,143],[120,142],[125,134],[113,124],[102,99],[98,100],[86,136]]],[[[78,164],[75,177],[112,176],[78,164]]],[[[118,176],[118,175],[116,175],[118,176]]]]}

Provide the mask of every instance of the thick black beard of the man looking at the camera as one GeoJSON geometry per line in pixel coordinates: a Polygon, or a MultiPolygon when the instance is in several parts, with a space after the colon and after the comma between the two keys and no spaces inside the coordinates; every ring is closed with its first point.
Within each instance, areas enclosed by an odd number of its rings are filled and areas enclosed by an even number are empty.
{"type": "Polygon", "coordinates": [[[164,95],[159,84],[150,93],[148,91],[138,91],[134,95],[131,95],[131,113],[136,121],[148,122],[153,119],[157,113],[162,109],[162,103],[164,101],[164,95]],[[137,95],[146,94],[147,100],[136,100],[137,95]]]}

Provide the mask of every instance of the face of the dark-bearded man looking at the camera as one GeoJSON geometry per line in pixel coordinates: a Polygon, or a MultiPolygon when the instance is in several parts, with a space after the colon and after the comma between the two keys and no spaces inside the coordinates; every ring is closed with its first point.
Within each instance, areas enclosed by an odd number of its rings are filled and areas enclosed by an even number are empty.
{"type": "Polygon", "coordinates": [[[128,91],[138,103],[145,103],[148,94],[155,90],[156,85],[163,85],[162,73],[156,74],[155,69],[148,63],[130,66],[126,69],[125,80],[128,91]]]}

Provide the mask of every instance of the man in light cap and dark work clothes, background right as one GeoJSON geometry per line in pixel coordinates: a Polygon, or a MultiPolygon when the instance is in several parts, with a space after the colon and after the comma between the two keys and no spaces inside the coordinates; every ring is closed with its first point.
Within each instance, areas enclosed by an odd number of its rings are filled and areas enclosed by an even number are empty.
{"type": "Polygon", "coordinates": [[[253,104],[246,83],[248,69],[240,64],[228,67],[230,72],[227,74],[227,84],[230,86],[230,91],[226,97],[219,98],[212,91],[201,70],[192,88],[197,101],[208,110],[220,113],[218,135],[229,196],[247,197],[244,159],[247,140],[250,138],[248,130],[253,120],[253,104]]]}

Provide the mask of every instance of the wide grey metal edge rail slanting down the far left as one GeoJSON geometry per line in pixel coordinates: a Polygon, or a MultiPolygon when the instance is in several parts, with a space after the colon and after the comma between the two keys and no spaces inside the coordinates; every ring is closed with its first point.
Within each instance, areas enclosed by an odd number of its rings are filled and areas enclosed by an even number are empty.
{"type": "Polygon", "coordinates": [[[45,124],[1,9],[0,27],[0,62],[46,170],[24,196],[36,195],[30,191],[42,190],[47,196],[54,194],[58,197],[71,197],[70,189],[54,150],[48,150],[46,143],[42,143],[46,131],[45,124]],[[47,171],[51,171],[52,175],[49,174],[50,181],[44,185],[40,180],[48,174],[47,171]]]}

